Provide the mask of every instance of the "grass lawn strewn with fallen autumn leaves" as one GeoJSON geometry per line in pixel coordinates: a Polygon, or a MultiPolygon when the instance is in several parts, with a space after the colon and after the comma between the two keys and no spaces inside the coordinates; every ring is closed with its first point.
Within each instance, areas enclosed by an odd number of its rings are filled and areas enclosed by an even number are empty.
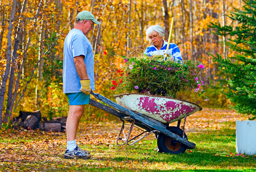
{"type": "Polygon", "coordinates": [[[118,147],[120,123],[83,122],[77,142],[91,151],[89,160],[63,159],[65,133],[0,130],[0,171],[256,171],[255,156],[235,152],[235,121],[246,119],[223,109],[189,116],[186,133],[196,148],[178,155],[158,153],[153,134],[118,147]]]}

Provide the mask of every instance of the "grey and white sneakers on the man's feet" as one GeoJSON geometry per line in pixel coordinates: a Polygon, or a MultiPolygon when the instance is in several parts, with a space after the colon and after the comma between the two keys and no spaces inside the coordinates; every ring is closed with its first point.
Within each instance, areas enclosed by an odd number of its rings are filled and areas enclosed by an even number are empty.
{"type": "Polygon", "coordinates": [[[90,152],[84,151],[78,147],[76,147],[73,151],[66,150],[64,154],[64,158],[66,159],[89,159],[91,157],[90,152]]]}

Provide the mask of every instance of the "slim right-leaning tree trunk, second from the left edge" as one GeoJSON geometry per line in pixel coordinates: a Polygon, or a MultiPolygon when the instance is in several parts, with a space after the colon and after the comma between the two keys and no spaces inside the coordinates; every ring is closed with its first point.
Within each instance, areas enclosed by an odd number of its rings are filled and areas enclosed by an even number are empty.
{"type": "Polygon", "coordinates": [[[7,93],[7,107],[6,107],[6,113],[4,117],[4,122],[7,122],[8,117],[12,116],[12,108],[13,108],[13,81],[14,81],[14,71],[15,71],[15,66],[17,66],[16,59],[17,59],[17,50],[19,48],[19,42],[22,36],[22,13],[25,12],[26,10],[26,5],[27,5],[28,0],[23,0],[22,8],[21,8],[21,13],[20,13],[20,20],[18,24],[18,29],[17,29],[17,34],[14,39],[14,46],[13,46],[13,53],[12,53],[12,66],[11,66],[11,73],[9,77],[9,86],[8,86],[8,93],[7,93]]]}

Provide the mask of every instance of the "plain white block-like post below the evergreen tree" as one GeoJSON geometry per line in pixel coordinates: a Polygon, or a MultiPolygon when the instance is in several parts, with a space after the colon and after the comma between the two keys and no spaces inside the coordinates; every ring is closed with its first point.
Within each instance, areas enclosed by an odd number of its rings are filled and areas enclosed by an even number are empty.
{"type": "Polygon", "coordinates": [[[236,121],[236,152],[256,154],[256,121],[236,121]]]}

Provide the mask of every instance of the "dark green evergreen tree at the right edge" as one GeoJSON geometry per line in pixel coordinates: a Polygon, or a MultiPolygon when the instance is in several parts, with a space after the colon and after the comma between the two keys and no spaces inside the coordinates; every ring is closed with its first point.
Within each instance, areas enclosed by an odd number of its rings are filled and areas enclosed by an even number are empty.
{"type": "Polygon", "coordinates": [[[243,10],[234,8],[235,12],[227,15],[238,26],[220,26],[220,23],[211,23],[215,35],[229,36],[227,45],[236,54],[231,58],[223,59],[217,54],[214,61],[220,65],[220,70],[228,77],[229,92],[227,98],[235,102],[234,108],[238,113],[252,114],[256,118],[256,1],[244,0],[243,10]]]}

